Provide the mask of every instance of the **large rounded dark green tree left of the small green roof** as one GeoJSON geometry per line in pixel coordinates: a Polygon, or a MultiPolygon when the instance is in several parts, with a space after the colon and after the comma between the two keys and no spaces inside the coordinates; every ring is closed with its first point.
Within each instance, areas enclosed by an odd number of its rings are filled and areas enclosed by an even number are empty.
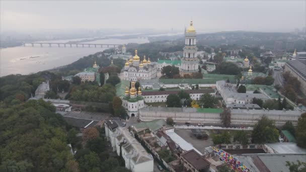
{"type": "Polygon", "coordinates": [[[278,136],[274,121],[266,116],[261,117],[252,131],[253,142],[259,144],[277,142],[278,136]]]}

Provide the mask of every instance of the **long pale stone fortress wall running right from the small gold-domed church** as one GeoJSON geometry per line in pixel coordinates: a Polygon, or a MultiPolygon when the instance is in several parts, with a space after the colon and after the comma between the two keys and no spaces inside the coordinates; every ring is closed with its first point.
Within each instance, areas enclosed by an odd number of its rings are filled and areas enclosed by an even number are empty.
{"type": "MultiPolygon", "coordinates": [[[[293,125],[297,125],[300,117],[300,111],[277,111],[277,110],[231,110],[231,124],[253,126],[262,116],[267,116],[275,121],[276,126],[282,126],[286,121],[291,121],[293,125]]],[[[146,109],[139,110],[139,119],[141,121],[151,121],[156,119],[164,119],[171,117],[177,123],[203,123],[221,125],[219,113],[196,113],[196,112],[168,112],[168,111],[148,111],[146,109]]]]}

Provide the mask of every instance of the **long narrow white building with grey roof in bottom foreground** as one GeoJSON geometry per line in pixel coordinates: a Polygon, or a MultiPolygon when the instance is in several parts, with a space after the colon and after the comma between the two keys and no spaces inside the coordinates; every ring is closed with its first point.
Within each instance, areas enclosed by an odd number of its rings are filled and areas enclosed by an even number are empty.
{"type": "Polygon", "coordinates": [[[125,168],[132,172],[152,172],[154,168],[154,158],[141,146],[133,137],[122,122],[116,120],[105,121],[105,135],[111,142],[113,151],[121,156],[125,161],[125,168]],[[118,125],[119,124],[119,125],[118,125]]]}

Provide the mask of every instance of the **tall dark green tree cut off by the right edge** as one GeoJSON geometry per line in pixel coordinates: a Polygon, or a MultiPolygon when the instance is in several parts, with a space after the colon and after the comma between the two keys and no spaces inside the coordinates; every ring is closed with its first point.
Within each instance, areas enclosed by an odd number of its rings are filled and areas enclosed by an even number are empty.
{"type": "Polygon", "coordinates": [[[298,118],[295,136],[297,145],[306,148],[306,113],[298,118]]]}

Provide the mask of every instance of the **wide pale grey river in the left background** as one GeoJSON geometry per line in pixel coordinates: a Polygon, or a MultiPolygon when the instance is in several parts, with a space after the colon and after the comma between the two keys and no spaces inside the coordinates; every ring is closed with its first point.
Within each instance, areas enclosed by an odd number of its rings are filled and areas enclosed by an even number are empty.
{"type": "MultiPolygon", "coordinates": [[[[77,40],[77,39],[74,39],[77,40]]],[[[58,40],[50,42],[64,43],[69,40],[58,40]]],[[[87,43],[97,44],[127,44],[127,43],[147,43],[147,39],[104,39],[87,43]]],[[[94,54],[99,51],[103,51],[106,48],[98,47],[70,47],[65,48],[57,47],[53,44],[52,47],[44,45],[32,46],[20,46],[12,48],[0,49],[0,76],[6,76],[9,74],[29,74],[32,72],[38,72],[42,70],[59,67],[62,65],[70,64],[78,59],[94,54]]]]}

